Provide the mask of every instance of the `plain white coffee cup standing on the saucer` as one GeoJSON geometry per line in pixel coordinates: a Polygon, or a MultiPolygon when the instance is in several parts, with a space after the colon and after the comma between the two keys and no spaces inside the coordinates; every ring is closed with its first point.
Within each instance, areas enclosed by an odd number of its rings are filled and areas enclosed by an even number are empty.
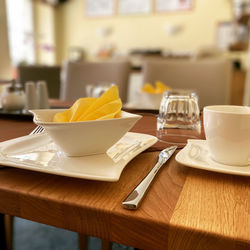
{"type": "Polygon", "coordinates": [[[250,107],[206,106],[203,118],[212,159],[226,165],[250,165],[250,107]]]}

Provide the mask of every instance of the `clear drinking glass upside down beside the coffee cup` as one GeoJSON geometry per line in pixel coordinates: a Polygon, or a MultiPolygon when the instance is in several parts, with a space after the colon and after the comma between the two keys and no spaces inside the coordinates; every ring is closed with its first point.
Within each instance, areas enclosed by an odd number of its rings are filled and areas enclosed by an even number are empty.
{"type": "Polygon", "coordinates": [[[160,142],[180,146],[184,146],[188,139],[200,138],[200,109],[195,91],[170,90],[163,93],[156,134],[160,142]]]}

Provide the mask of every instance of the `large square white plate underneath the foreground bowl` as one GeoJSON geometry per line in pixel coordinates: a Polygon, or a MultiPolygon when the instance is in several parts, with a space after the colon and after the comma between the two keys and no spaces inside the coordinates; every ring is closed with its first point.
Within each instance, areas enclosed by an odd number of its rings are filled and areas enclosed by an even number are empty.
{"type": "Polygon", "coordinates": [[[154,136],[128,132],[106,154],[67,157],[45,133],[27,135],[0,143],[0,164],[82,179],[118,181],[127,163],[156,142],[154,136]]]}

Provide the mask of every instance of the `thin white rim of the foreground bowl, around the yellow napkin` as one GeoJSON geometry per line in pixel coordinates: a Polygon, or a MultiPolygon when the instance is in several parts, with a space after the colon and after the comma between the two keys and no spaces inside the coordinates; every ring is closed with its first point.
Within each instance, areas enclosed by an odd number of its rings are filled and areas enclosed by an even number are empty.
{"type": "MultiPolygon", "coordinates": [[[[30,110],[31,112],[32,111],[36,111],[36,110],[41,110],[41,109],[33,109],[33,110],[30,110]]],[[[53,110],[53,111],[58,111],[58,112],[63,112],[67,109],[44,109],[44,111],[48,111],[48,110],[53,110]]],[[[72,125],[79,125],[79,124],[91,124],[91,123],[97,123],[97,122],[108,122],[108,121],[120,121],[120,120],[126,120],[126,119],[131,119],[131,118],[138,118],[138,119],[141,119],[142,118],[142,115],[139,115],[139,114],[134,114],[134,113],[130,113],[130,112],[127,112],[127,111],[124,111],[124,110],[121,110],[121,113],[122,114],[129,114],[130,116],[126,116],[126,117],[117,117],[117,118],[112,118],[112,119],[104,119],[104,120],[89,120],[89,121],[76,121],[76,122],[43,122],[43,121],[38,121],[36,118],[35,118],[35,114],[32,112],[33,114],[33,122],[37,125],[51,125],[51,126],[72,126],[72,125]]]]}

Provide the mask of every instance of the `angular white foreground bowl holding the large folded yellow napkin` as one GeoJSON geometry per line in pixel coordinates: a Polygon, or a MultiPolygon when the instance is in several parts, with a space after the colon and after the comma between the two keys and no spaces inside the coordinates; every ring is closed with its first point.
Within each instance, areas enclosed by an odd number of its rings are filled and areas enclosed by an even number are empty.
{"type": "Polygon", "coordinates": [[[65,109],[30,110],[34,123],[44,127],[67,156],[103,154],[142,117],[122,111],[121,117],[82,122],[52,122],[65,109]]]}

